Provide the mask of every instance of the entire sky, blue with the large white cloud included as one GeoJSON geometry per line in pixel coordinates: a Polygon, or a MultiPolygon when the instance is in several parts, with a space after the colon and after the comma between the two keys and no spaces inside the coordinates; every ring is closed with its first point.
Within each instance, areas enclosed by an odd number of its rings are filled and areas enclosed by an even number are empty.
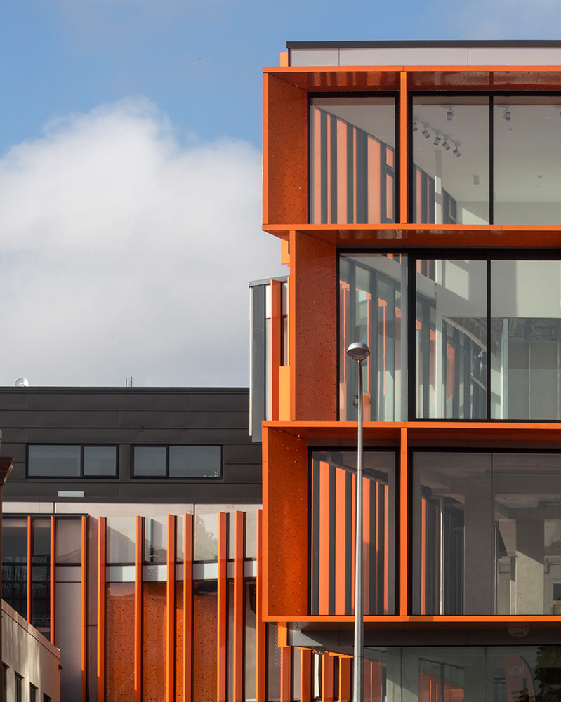
{"type": "Polygon", "coordinates": [[[554,0],[0,9],[0,385],[245,385],[263,65],[286,41],[554,39],[554,0]],[[227,347],[216,357],[206,338],[227,347]]]}

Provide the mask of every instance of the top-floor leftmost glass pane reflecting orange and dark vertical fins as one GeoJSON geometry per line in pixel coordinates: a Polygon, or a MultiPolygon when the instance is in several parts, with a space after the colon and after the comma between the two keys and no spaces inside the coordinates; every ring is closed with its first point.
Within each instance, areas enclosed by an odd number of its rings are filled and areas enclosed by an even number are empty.
{"type": "Polygon", "coordinates": [[[312,98],[310,222],[395,221],[395,98],[312,98]]]}

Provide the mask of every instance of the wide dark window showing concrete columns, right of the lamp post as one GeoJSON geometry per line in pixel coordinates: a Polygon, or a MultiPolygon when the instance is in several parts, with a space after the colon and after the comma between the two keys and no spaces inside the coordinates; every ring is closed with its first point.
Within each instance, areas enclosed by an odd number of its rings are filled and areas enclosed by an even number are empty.
{"type": "Polygon", "coordinates": [[[561,456],[413,456],[414,614],[559,614],[561,456]]]}

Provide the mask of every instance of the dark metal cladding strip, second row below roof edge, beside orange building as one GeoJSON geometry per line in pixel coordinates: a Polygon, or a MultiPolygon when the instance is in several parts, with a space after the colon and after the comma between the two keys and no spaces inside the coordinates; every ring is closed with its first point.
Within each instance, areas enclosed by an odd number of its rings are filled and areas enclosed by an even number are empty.
{"type": "Polygon", "coordinates": [[[120,412],[119,426],[164,428],[248,428],[248,413],[238,411],[120,412]]]}

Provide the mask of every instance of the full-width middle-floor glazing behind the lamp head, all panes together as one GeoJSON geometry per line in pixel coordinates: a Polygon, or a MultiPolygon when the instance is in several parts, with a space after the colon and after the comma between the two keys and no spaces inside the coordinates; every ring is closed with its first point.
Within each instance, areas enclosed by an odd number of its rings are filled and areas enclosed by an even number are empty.
{"type": "Polygon", "coordinates": [[[561,420],[560,300],[559,260],[341,254],[339,416],[362,341],[367,421],[561,420]]]}

